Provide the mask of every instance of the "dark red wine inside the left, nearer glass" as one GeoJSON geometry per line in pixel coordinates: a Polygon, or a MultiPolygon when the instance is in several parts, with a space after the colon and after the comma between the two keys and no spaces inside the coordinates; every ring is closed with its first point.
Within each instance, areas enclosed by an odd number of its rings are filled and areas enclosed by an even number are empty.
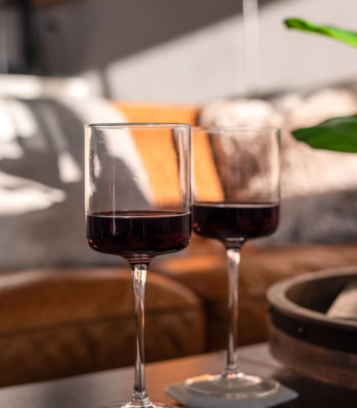
{"type": "Polygon", "coordinates": [[[126,259],[180,251],[186,248],[190,236],[190,213],[123,211],[87,216],[89,246],[126,259]]]}

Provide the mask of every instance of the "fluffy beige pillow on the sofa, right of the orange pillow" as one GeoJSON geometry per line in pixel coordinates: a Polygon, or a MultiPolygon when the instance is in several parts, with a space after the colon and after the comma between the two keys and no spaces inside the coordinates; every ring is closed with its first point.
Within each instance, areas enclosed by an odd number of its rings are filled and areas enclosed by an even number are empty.
{"type": "Polygon", "coordinates": [[[282,130],[282,215],[278,231],[261,242],[344,242],[357,239],[357,155],[317,150],[291,131],[329,117],[357,113],[357,98],[343,87],[270,101],[216,101],[202,110],[202,125],[276,126],[282,130]]]}

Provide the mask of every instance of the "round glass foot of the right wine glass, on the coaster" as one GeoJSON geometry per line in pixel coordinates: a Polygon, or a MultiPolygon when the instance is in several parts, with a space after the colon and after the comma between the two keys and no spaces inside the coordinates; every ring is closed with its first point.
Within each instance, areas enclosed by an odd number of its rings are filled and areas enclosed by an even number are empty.
{"type": "Polygon", "coordinates": [[[227,399],[267,397],[274,394],[279,386],[279,382],[272,378],[243,373],[204,374],[185,381],[188,390],[227,399]]]}

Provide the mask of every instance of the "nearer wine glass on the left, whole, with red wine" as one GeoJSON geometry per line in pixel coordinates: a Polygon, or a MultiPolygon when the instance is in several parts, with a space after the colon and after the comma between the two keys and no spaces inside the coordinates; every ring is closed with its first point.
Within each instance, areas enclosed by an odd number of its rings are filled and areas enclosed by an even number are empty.
{"type": "Polygon", "coordinates": [[[136,314],[136,363],[125,408],[155,408],[146,393],[144,295],[148,265],[184,249],[191,235],[190,125],[85,126],[87,239],[129,262],[136,314]]]}

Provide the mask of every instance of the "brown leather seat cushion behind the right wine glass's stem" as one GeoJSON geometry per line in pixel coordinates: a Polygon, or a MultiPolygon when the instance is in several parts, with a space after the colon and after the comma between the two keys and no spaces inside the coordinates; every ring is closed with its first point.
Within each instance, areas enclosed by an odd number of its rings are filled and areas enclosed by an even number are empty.
{"type": "MultiPolygon", "coordinates": [[[[223,244],[213,252],[194,253],[189,260],[163,258],[155,269],[192,289],[204,302],[207,313],[206,350],[226,346],[227,262],[223,244]]],[[[207,240],[210,244],[211,240],[207,240]]],[[[199,241],[200,242],[200,241],[199,241]]],[[[246,246],[239,270],[239,344],[266,340],[265,294],[275,282],[305,272],[357,265],[357,244],[246,246]]]]}

